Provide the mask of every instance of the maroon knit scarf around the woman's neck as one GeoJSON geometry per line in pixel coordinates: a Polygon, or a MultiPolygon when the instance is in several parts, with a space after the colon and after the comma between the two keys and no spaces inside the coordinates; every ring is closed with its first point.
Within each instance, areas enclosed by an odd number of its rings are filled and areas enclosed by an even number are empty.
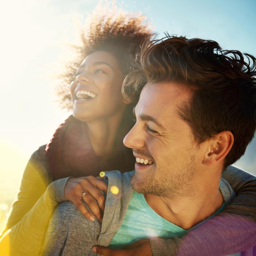
{"type": "Polygon", "coordinates": [[[46,145],[45,153],[54,180],[68,176],[98,176],[101,171],[134,169],[135,158],[130,148],[123,145],[123,138],[133,122],[128,108],[116,136],[113,157],[97,157],[90,142],[87,124],[69,116],[54,132],[46,145]]]}

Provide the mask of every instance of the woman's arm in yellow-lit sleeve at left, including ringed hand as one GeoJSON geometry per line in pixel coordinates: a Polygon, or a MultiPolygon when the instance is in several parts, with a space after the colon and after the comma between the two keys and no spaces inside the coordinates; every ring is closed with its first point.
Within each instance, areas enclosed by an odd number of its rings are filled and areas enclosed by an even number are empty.
{"type": "Polygon", "coordinates": [[[44,148],[35,151],[26,166],[17,199],[0,236],[0,255],[38,255],[49,219],[56,206],[65,200],[73,202],[90,219],[93,215],[82,203],[83,199],[95,217],[102,219],[105,197],[99,189],[106,192],[108,185],[92,176],[52,182],[44,148]],[[87,193],[82,197],[83,192],[87,193]]]}

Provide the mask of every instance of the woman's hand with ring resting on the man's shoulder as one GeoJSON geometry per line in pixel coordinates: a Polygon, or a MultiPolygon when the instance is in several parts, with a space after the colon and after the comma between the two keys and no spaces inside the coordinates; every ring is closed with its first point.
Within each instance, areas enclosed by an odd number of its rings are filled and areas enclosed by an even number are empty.
{"type": "Polygon", "coordinates": [[[80,177],[69,178],[64,189],[67,200],[75,204],[78,210],[90,221],[94,221],[94,216],[84,206],[83,201],[89,206],[96,218],[102,222],[105,208],[105,197],[101,191],[107,193],[108,185],[101,177],[80,177]],[[98,204],[95,202],[98,202],[98,204]]]}

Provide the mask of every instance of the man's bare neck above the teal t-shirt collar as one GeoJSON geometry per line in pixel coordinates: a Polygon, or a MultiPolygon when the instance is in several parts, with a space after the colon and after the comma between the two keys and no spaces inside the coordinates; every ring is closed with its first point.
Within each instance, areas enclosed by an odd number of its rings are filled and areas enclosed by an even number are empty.
{"type": "Polygon", "coordinates": [[[217,212],[223,204],[219,183],[194,187],[193,196],[167,198],[144,195],[148,205],[167,221],[188,230],[217,212]]]}

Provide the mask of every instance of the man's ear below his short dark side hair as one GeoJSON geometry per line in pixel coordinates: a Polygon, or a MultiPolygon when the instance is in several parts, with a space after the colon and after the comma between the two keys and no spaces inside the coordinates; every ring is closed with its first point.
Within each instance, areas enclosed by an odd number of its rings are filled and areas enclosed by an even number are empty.
{"type": "Polygon", "coordinates": [[[223,161],[234,143],[234,135],[230,131],[218,133],[207,142],[208,147],[204,155],[205,165],[215,165],[223,161]]]}

